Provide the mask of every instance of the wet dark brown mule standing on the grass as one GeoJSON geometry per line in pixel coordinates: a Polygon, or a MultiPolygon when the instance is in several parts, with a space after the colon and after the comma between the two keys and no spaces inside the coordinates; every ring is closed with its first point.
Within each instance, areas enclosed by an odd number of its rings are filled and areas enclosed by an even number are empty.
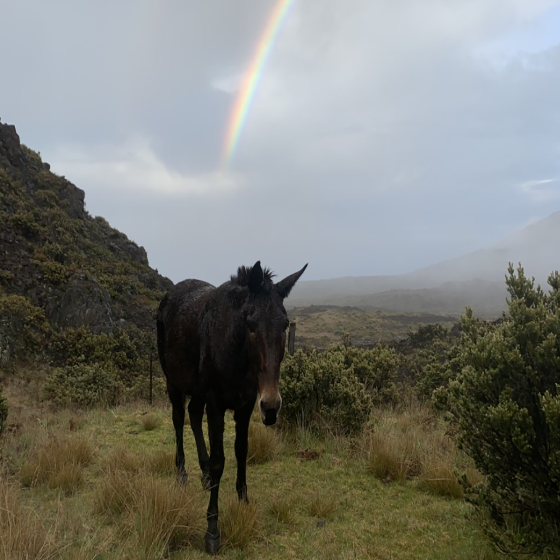
{"type": "Polygon", "coordinates": [[[260,261],[251,268],[240,267],[217,288],[201,280],[184,280],[167,292],[158,309],[157,350],[173,409],[177,477],[186,483],[183,426],[188,395],[202,484],[210,489],[205,539],[210,554],[220,549],[218,490],[225,463],[226,409],[235,411],[237,494],[249,502],[245,479],[249,421],[258,399],[264,424],[276,422],[288,326],[283,300],[306,268],[307,264],[278,283],[260,261]],[[209,456],[202,432],[205,405],[209,456]]]}

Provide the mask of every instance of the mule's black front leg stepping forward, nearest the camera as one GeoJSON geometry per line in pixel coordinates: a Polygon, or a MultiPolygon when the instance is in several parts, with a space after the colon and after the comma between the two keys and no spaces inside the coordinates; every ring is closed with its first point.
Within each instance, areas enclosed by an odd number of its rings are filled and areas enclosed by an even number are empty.
{"type": "Polygon", "coordinates": [[[220,480],[225,465],[223,455],[223,417],[226,410],[218,407],[215,402],[209,400],[206,404],[206,416],[208,419],[208,438],[210,440],[210,501],[206,519],[208,530],[204,537],[206,552],[217,554],[220,550],[220,530],[218,530],[218,492],[220,491],[220,480]]]}

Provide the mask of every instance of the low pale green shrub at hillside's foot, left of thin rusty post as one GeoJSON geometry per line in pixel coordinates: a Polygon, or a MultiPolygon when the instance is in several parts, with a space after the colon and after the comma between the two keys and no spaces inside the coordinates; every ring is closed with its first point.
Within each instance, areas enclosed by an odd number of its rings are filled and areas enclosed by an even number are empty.
{"type": "Polygon", "coordinates": [[[58,406],[91,408],[118,404],[123,384],[113,368],[80,364],[56,368],[46,379],[43,391],[58,406]]]}

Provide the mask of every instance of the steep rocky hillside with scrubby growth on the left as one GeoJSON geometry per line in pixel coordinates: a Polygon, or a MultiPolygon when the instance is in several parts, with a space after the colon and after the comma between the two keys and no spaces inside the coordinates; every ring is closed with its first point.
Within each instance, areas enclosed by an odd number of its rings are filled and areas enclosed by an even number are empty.
{"type": "Polygon", "coordinates": [[[58,330],[152,331],[172,282],[84,201],[83,190],[50,171],[13,125],[0,123],[0,297],[27,298],[58,330]]]}

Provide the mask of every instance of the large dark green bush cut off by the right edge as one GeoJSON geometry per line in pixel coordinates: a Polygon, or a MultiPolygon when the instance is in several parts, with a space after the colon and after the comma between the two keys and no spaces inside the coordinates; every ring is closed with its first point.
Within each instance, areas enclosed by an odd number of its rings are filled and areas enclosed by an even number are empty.
{"type": "Polygon", "coordinates": [[[509,317],[462,318],[464,367],[450,383],[459,445],[486,480],[464,483],[486,533],[510,553],[560,554],[560,276],[545,294],[510,264],[509,317]]]}

